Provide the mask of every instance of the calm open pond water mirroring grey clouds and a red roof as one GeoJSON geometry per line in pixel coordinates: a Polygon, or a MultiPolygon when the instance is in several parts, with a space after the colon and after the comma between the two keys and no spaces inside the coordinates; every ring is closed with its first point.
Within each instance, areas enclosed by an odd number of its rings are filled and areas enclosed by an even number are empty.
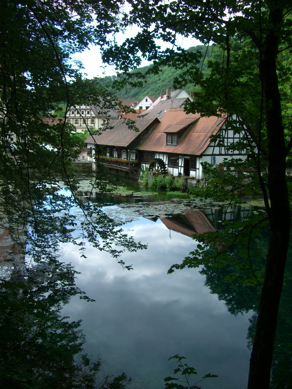
{"type": "MultiPolygon", "coordinates": [[[[85,191],[80,195],[88,200],[85,191]]],[[[91,200],[95,197],[100,201],[95,194],[91,200]]],[[[63,261],[81,272],[77,285],[96,300],[74,298],[63,314],[83,319],[84,350],[102,357],[104,371],[134,378],[133,388],[163,388],[163,378],[176,367],[167,359],[175,354],[195,367],[196,381],[207,373],[219,376],[202,382],[202,388],[246,388],[252,312],[231,315],[204,286],[198,269],[167,274],[195,248],[193,233],[220,228],[223,209],[206,205],[202,212],[195,201],[171,197],[107,197],[111,205],[104,211],[125,221],[124,230],[148,249],[122,255],[126,265],[133,265],[128,271],[107,253],[88,247],[84,259],[75,247],[63,245],[63,261]]],[[[237,216],[249,212],[235,211],[237,216]]]]}

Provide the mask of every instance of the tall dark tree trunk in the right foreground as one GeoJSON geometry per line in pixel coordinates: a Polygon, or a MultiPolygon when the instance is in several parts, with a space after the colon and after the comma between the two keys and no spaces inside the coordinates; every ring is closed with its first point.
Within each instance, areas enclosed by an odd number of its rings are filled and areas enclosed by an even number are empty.
{"type": "Polygon", "coordinates": [[[281,2],[274,1],[270,12],[273,30],[267,33],[261,52],[261,77],[266,110],[268,148],[268,188],[270,209],[269,248],[266,259],[264,283],[259,302],[248,389],[268,389],[273,358],[276,324],[284,279],[290,231],[290,207],[285,177],[286,148],[281,117],[281,101],[276,73],[276,56],[283,18],[281,2]]]}

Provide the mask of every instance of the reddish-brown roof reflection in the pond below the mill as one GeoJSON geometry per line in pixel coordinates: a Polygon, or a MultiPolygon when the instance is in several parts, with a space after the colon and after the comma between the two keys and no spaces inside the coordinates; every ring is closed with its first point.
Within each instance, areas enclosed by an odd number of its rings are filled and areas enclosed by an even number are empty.
{"type": "Polygon", "coordinates": [[[188,237],[207,231],[215,231],[215,228],[199,209],[189,210],[184,215],[178,214],[171,218],[162,217],[160,220],[169,230],[179,232],[188,237]]]}

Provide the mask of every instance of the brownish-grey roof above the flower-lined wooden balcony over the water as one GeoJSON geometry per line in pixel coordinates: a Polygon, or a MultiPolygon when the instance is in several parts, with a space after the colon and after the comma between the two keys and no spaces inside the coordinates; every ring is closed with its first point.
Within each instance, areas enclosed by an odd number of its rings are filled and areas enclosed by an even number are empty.
{"type": "Polygon", "coordinates": [[[159,120],[156,117],[145,119],[134,119],[135,126],[139,132],[128,128],[124,120],[120,119],[113,124],[113,128],[101,132],[99,135],[88,137],[85,143],[95,143],[99,145],[124,146],[127,147],[135,138],[137,138],[151,123],[159,120]]]}

